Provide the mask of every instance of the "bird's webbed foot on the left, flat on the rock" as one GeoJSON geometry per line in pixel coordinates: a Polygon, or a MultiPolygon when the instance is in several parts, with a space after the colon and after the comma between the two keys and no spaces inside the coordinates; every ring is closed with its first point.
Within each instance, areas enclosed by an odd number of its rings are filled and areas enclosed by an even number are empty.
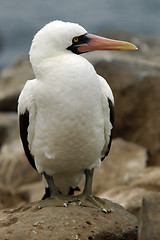
{"type": "Polygon", "coordinates": [[[44,207],[68,207],[69,202],[73,202],[72,196],[65,195],[53,195],[50,198],[46,198],[45,200],[41,200],[39,204],[39,208],[44,207]]]}

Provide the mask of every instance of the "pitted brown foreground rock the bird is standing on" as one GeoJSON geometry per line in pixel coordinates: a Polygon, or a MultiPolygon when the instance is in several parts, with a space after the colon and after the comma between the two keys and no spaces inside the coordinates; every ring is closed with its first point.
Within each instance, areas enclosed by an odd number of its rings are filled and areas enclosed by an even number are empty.
{"type": "Polygon", "coordinates": [[[136,239],[136,218],[112,202],[109,214],[74,204],[39,210],[37,204],[1,211],[1,239],[136,239]]]}

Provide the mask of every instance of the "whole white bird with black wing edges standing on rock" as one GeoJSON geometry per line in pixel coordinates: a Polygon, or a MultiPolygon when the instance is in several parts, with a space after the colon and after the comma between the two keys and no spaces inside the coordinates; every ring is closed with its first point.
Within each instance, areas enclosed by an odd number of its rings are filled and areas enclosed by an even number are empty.
{"type": "Polygon", "coordinates": [[[79,54],[134,49],[70,22],[53,21],[35,35],[30,62],[36,79],[26,82],[18,114],[25,154],[43,176],[41,206],[77,201],[110,211],[106,201],[92,195],[91,186],[94,168],[110,149],[114,98],[106,80],[79,54]],[[83,193],[69,196],[84,174],[83,193]]]}

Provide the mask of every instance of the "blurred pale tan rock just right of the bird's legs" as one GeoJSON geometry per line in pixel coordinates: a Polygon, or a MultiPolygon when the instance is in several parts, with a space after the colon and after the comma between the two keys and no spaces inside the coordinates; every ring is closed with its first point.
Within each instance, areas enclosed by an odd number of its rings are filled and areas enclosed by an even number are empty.
{"type": "Polygon", "coordinates": [[[114,139],[108,157],[100,168],[95,169],[94,193],[99,195],[114,187],[126,185],[146,167],[146,162],[147,151],[144,147],[120,138],[114,139]]]}

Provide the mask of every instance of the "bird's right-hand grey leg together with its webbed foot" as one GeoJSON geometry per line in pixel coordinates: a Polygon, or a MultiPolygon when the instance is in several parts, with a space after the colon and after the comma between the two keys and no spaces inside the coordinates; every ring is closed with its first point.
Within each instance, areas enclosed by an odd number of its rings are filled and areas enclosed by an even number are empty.
{"type": "Polygon", "coordinates": [[[92,194],[92,178],[94,169],[85,170],[85,187],[82,194],[78,195],[78,204],[86,207],[97,208],[103,212],[111,212],[109,205],[105,199],[93,196],[92,194]]]}

